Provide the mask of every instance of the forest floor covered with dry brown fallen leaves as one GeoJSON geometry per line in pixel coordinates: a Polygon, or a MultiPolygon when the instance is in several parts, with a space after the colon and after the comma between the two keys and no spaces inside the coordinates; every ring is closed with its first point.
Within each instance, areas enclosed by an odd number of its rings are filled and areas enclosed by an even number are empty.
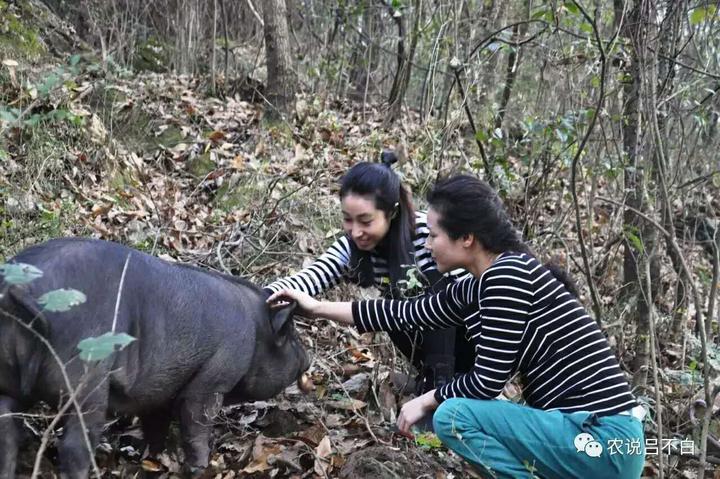
{"type": "MultiPolygon", "coordinates": [[[[93,236],[267,284],[300,269],[340,233],[338,179],[350,165],[397,148],[411,159],[398,170],[418,198],[447,166],[431,160],[439,133],[413,112],[386,128],[381,107],[301,97],[293,118],[271,124],[251,90],[220,85],[224,93],[213,95],[205,79],[133,74],[90,54],[6,58],[0,69],[0,104],[7,105],[0,112],[0,259],[52,237],[93,236]]],[[[372,294],[342,286],[328,297],[372,294]]],[[[612,294],[603,300],[612,304],[612,294]]],[[[224,410],[206,477],[474,474],[432,434],[409,440],[393,432],[397,407],[410,397],[395,373],[414,372],[386,336],[302,318],[297,326],[313,356],[315,390],[289,388],[274,400],[224,410]]],[[[630,336],[609,336],[625,361],[630,336]]],[[[665,344],[661,359],[668,371],[681,371],[669,372],[663,386],[678,440],[691,434],[686,411],[698,391],[679,350],[665,344]]],[[[518,390],[506,394],[515,398],[518,390]]],[[[21,474],[32,469],[33,431],[44,423],[29,426],[21,474]]],[[[144,458],[137,423],[118,418],[98,460],[108,477],[167,477],[179,470],[177,454],[144,458]]],[[[53,456],[51,447],[45,470],[53,456]]],[[[667,459],[674,477],[694,477],[693,458],[667,459]]],[[[648,457],[645,475],[656,473],[657,457],[648,457]]]]}

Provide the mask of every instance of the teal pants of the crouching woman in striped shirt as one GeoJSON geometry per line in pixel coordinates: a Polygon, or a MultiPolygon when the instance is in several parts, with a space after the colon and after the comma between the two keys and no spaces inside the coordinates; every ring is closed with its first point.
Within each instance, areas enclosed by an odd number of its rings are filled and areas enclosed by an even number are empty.
{"type": "Polygon", "coordinates": [[[643,425],[632,416],[452,398],[435,411],[433,426],[486,477],[637,479],[645,464],[643,425]]]}

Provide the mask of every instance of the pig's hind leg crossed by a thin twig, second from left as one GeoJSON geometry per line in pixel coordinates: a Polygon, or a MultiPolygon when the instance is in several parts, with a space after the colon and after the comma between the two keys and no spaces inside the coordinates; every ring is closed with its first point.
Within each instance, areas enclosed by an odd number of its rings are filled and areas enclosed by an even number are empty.
{"type": "Polygon", "coordinates": [[[95,454],[95,447],[100,439],[107,413],[108,385],[97,382],[88,382],[83,389],[89,392],[88,396],[78,395],[78,403],[83,411],[83,420],[87,426],[87,435],[90,439],[88,447],[85,435],[80,425],[77,413],[68,413],[63,422],[63,435],[58,444],[60,458],[60,478],[80,479],[88,477],[90,471],[90,455],[95,454]]]}

